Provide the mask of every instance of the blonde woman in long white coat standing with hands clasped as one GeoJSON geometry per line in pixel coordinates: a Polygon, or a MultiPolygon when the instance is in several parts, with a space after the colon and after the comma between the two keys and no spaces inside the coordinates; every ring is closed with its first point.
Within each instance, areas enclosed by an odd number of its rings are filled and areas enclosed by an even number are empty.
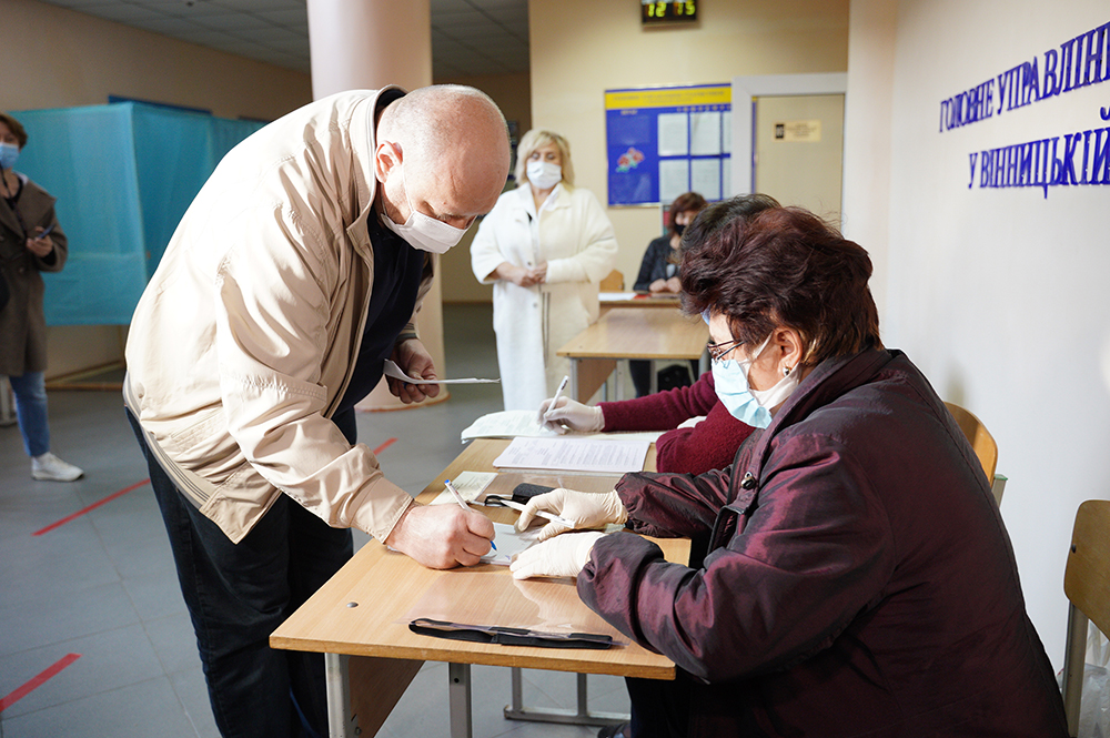
{"type": "Polygon", "coordinates": [[[598,284],[613,271],[617,242],[597,198],[574,186],[566,139],[533,129],[516,151],[518,186],[478,225],[471,266],[494,285],[505,410],[532,410],[569,373],[555,352],[597,321],[598,284]]]}

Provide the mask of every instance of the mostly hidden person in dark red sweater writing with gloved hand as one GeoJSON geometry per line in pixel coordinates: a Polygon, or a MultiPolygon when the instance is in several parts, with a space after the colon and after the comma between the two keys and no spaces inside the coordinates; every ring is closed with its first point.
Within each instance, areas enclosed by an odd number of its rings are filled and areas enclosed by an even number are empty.
{"type": "MultiPolygon", "coordinates": [[[[753,193],[715,203],[702,213],[720,225],[778,206],[770,195],[753,193]]],[[[705,231],[699,233],[702,237],[707,235],[705,231]]],[[[556,433],[666,431],[655,442],[658,472],[703,474],[725,468],[751,433],[751,426],[733,417],[717,398],[713,372],[703,374],[692,386],[635,400],[589,406],[563,396],[558,406],[548,412],[549,406],[549,398],[541,403],[538,418],[556,433]]]]}

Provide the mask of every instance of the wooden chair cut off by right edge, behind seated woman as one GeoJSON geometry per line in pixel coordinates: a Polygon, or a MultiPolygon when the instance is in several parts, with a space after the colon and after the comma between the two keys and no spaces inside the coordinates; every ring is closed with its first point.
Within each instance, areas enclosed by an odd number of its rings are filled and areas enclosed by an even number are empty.
{"type": "Polygon", "coordinates": [[[1063,656],[1063,710],[1068,735],[1079,735],[1079,705],[1087,660],[1087,624],[1110,633],[1110,502],[1089,499],[1079,506],[1071,552],[1063,574],[1068,596],[1068,646],[1063,656]]]}

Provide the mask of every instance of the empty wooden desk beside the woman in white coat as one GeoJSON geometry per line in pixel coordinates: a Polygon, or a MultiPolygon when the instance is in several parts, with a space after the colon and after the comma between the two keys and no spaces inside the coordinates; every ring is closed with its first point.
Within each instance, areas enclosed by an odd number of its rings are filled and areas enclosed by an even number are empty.
{"type": "MultiPolygon", "coordinates": [[[[571,360],[571,396],[588,402],[617,368],[616,400],[622,400],[622,382],[617,362],[624,358],[695,360],[706,370],[705,343],[709,328],[699,319],[690,319],[674,310],[657,307],[614,307],[596,323],[564,344],[559,356],[571,360]]],[[[655,387],[655,372],[652,372],[655,387]]]]}

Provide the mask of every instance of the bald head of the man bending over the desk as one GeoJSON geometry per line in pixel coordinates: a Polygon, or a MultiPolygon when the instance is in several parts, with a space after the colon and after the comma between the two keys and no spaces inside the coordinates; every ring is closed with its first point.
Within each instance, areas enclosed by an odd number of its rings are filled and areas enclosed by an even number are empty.
{"type": "Polygon", "coordinates": [[[505,117],[474,88],[443,84],[413,90],[382,111],[376,143],[386,206],[396,208],[400,215],[407,215],[407,202],[389,180],[401,162],[412,206],[435,218],[468,219],[467,224],[490,212],[508,176],[505,117]],[[386,143],[393,150],[386,153],[396,154],[398,161],[382,161],[386,143]]]}

